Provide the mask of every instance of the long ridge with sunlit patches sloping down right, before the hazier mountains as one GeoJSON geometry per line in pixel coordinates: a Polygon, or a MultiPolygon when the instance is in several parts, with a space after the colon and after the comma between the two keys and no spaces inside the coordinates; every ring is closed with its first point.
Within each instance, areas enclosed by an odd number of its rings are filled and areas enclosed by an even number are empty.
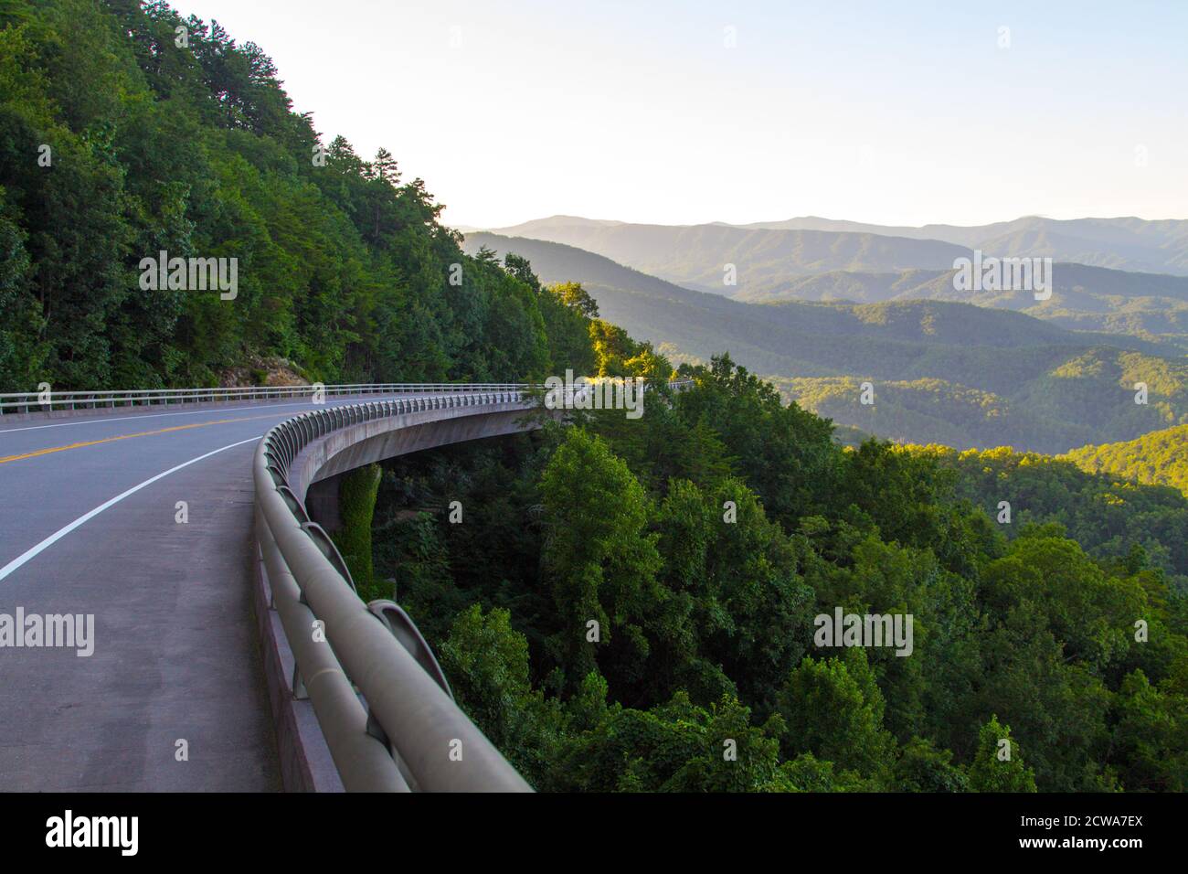
{"type": "Polygon", "coordinates": [[[949,301],[751,304],[665,282],[573,246],[489,233],[546,283],[579,281],[605,319],[676,352],[734,360],[839,423],[909,442],[1063,452],[1188,421],[1188,363],[1167,346],[1082,334],[949,301]],[[876,403],[860,403],[861,382],[876,403]],[[1150,403],[1133,403],[1148,382],[1150,403]]]}

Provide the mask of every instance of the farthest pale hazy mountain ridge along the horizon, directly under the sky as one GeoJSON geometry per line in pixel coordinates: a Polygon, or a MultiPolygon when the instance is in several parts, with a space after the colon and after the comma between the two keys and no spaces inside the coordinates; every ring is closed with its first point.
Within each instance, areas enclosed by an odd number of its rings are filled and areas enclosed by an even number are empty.
{"type": "Polygon", "coordinates": [[[681,226],[557,215],[494,232],[579,246],[655,276],[720,294],[731,293],[722,285],[722,265],[727,263],[738,266],[737,290],[741,291],[770,279],[832,270],[950,269],[954,257],[973,249],[999,257],[1050,257],[1091,266],[1188,276],[1188,220],[1174,219],[1026,216],[968,227],[905,227],[807,216],[751,225],[681,226]],[[911,240],[917,245],[911,246],[911,240]],[[930,245],[941,243],[949,249],[930,245]]]}

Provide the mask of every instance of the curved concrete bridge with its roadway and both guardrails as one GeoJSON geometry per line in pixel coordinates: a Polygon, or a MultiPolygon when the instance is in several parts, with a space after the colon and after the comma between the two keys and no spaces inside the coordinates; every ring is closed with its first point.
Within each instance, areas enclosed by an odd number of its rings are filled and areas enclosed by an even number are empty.
{"type": "Polygon", "coordinates": [[[526,790],[316,524],[522,388],[0,396],[0,791],[526,790]]]}

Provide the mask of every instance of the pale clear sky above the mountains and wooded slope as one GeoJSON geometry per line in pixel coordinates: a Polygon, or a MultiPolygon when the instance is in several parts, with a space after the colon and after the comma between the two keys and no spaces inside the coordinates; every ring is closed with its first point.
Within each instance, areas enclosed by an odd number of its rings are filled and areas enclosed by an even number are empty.
{"type": "Polygon", "coordinates": [[[1182,0],[175,5],[454,226],[1188,218],[1182,0]]]}

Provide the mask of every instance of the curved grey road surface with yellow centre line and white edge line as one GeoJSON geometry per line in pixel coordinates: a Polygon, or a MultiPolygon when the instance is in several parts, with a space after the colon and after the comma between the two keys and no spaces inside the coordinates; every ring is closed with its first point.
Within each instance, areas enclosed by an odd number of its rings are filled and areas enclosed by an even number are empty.
{"type": "Polygon", "coordinates": [[[280,788],[248,585],[251,460],[308,409],[0,417],[0,791],[280,788]],[[93,615],[94,653],[6,643],[18,610],[93,615]]]}

